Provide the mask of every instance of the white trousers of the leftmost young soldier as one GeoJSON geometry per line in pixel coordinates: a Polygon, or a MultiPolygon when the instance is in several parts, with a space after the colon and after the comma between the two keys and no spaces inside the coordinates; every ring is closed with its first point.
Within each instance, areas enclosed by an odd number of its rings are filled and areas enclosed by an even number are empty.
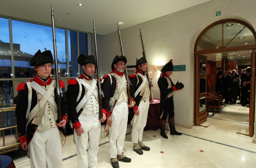
{"type": "Polygon", "coordinates": [[[57,127],[45,132],[35,132],[29,143],[31,168],[61,168],[61,148],[60,132],[57,127]]]}

